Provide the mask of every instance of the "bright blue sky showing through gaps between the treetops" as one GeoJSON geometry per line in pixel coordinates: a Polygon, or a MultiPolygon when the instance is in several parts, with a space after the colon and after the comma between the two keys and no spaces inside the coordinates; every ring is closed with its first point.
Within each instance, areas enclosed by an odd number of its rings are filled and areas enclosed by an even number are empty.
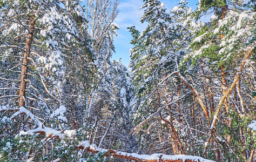
{"type": "MultiPolygon", "coordinates": [[[[163,0],[167,11],[171,11],[172,8],[180,2],[180,0],[163,0]]],[[[198,0],[187,0],[188,6],[193,10],[196,9],[198,0]]],[[[127,27],[136,26],[136,29],[142,32],[146,28],[146,24],[140,23],[140,17],[143,15],[143,10],[140,7],[144,4],[143,0],[120,0],[119,14],[115,19],[120,27],[117,31],[118,37],[114,37],[114,46],[116,47],[116,53],[113,54],[112,59],[121,59],[121,62],[125,65],[129,65],[130,61],[130,49],[133,47],[131,42],[131,33],[127,30],[127,27]]]]}

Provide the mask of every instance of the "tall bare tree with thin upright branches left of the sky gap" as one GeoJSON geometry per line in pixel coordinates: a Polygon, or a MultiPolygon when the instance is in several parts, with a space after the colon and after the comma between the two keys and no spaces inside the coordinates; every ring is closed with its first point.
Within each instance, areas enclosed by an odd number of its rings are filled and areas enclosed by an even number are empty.
{"type": "Polygon", "coordinates": [[[118,14],[117,5],[119,1],[86,1],[86,19],[89,22],[87,32],[93,39],[92,49],[95,51],[95,77],[87,88],[86,110],[84,125],[88,122],[91,110],[93,109],[93,99],[97,95],[98,84],[102,82],[103,72],[110,65],[110,57],[114,51],[113,35],[116,35],[118,25],[112,23],[118,14]]]}

